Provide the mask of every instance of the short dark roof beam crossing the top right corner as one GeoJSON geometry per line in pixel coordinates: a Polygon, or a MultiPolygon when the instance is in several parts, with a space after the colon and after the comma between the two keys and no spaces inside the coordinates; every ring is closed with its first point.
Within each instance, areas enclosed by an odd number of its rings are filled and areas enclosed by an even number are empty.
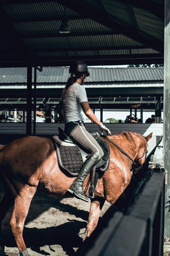
{"type": "Polygon", "coordinates": [[[157,16],[159,19],[164,21],[164,1],[163,3],[159,3],[156,1],[152,0],[142,0],[142,1],[137,1],[137,0],[116,0],[117,2],[122,2],[127,5],[131,5],[132,7],[137,7],[140,9],[144,9],[146,11],[150,11],[153,13],[155,16],[157,16]]]}

